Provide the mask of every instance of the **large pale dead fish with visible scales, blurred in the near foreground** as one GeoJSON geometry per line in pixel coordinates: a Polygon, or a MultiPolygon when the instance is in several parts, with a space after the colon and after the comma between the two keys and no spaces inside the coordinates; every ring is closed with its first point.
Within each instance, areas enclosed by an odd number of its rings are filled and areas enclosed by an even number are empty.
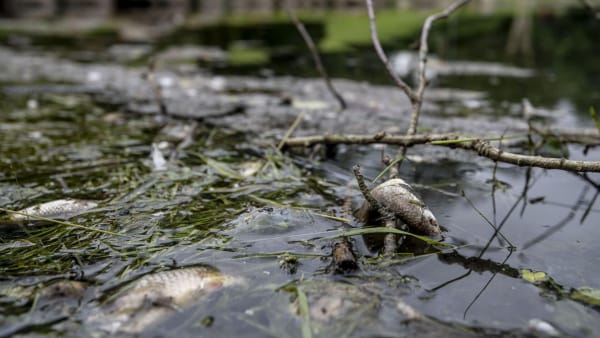
{"type": "Polygon", "coordinates": [[[101,326],[112,333],[139,333],[201,297],[241,282],[210,266],[145,275],[105,307],[101,326]]]}

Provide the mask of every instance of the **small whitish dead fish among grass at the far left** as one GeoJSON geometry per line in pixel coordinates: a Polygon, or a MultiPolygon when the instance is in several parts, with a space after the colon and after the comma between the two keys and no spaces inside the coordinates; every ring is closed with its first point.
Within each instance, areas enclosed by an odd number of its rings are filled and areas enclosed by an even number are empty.
{"type": "Polygon", "coordinates": [[[37,217],[66,219],[70,215],[82,213],[98,206],[98,203],[89,200],[73,198],[60,199],[25,208],[10,215],[12,221],[36,220],[37,217]]]}

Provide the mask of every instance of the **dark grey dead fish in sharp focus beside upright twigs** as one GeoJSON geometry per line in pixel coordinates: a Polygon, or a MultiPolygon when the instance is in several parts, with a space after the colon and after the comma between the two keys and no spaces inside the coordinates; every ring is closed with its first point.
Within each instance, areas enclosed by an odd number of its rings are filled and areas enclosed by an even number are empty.
{"type": "MultiPolygon", "coordinates": [[[[392,211],[411,230],[426,235],[436,235],[441,232],[431,210],[403,179],[395,178],[383,182],[371,190],[371,196],[392,211]]],[[[377,216],[377,210],[374,210],[367,201],[358,212],[358,218],[365,223],[377,216]]]]}

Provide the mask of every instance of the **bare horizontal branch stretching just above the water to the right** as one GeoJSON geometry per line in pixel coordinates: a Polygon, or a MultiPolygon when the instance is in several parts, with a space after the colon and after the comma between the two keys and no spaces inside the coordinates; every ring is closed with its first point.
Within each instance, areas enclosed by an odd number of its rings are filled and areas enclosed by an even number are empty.
{"type": "Polygon", "coordinates": [[[482,157],[491,160],[516,164],[518,166],[538,167],[545,169],[560,169],[575,172],[600,172],[600,162],[574,161],[564,158],[552,158],[532,155],[515,154],[502,151],[492,146],[488,141],[479,138],[464,138],[454,134],[432,135],[325,135],[298,137],[287,140],[284,144],[288,147],[310,146],[314,144],[396,144],[410,147],[417,144],[433,144],[450,148],[461,148],[475,151],[482,157]]]}

